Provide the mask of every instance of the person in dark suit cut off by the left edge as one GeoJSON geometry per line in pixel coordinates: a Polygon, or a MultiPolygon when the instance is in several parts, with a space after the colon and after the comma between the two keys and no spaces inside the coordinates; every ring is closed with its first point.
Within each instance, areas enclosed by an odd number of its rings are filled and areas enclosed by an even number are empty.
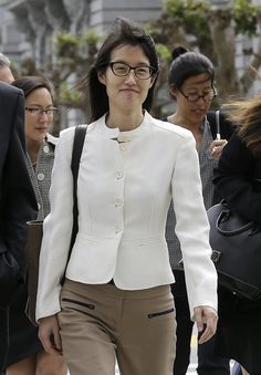
{"type": "MultiPolygon", "coordinates": [[[[36,200],[25,162],[24,102],[20,90],[0,82],[0,244],[25,277],[25,222],[36,216],[36,200]]],[[[1,250],[1,249],[0,249],[1,250]]],[[[10,283],[11,284],[11,283],[10,283]]],[[[9,284],[0,290],[9,292],[9,284]]],[[[10,290],[14,294],[15,290],[10,290]]],[[[1,295],[0,295],[1,305],[1,295]]],[[[0,372],[8,347],[8,306],[0,308],[0,372]]]]}

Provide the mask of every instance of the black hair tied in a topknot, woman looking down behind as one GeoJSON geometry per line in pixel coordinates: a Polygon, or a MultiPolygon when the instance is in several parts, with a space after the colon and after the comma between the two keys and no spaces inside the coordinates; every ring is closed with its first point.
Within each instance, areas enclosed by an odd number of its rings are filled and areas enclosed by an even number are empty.
{"type": "Polygon", "coordinates": [[[211,61],[202,53],[177,46],[173,50],[173,62],[169,67],[168,84],[170,87],[181,88],[190,76],[207,73],[213,85],[215,69],[211,61]]]}

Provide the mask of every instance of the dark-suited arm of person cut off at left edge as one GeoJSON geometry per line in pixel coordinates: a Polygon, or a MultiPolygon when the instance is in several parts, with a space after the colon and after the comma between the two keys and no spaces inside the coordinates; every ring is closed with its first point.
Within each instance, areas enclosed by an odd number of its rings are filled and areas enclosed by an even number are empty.
{"type": "Polygon", "coordinates": [[[9,103],[3,108],[4,126],[8,127],[6,134],[10,133],[2,174],[1,239],[17,259],[24,277],[25,223],[36,216],[36,200],[25,162],[23,95],[13,87],[9,93],[9,103]]]}

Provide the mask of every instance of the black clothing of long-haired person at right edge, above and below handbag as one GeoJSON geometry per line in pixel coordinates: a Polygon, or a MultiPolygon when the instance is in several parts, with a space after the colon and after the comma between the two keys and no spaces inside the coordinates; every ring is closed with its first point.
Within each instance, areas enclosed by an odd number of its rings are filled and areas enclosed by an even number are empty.
{"type": "MultiPolygon", "coordinates": [[[[261,158],[254,157],[237,134],[222,152],[213,183],[231,209],[261,223],[261,158]]],[[[261,300],[241,299],[219,289],[216,354],[238,361],[253,375],[261,374],[260,316],[261,300]]]]}

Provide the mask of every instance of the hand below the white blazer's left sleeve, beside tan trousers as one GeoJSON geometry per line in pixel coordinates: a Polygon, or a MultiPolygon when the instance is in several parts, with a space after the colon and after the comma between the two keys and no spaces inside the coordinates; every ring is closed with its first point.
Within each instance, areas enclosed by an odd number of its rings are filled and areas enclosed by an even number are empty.
{"type": "Polygon", "coordinates": [[[46,353],[62,355],[62,341],[56,315],[40,319],[38,336],[46,353]]]}

